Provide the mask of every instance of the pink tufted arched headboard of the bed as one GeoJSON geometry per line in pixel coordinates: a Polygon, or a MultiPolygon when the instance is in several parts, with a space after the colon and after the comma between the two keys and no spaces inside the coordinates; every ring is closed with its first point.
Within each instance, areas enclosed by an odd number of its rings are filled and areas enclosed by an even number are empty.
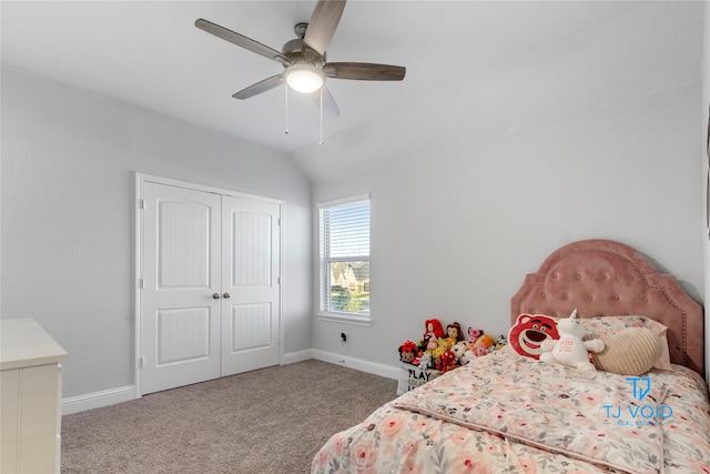
{"type": "Polygon", "coordinates": [[[523,313],[566,317],[574,309],[579,317],[637,314],[661,322],[671,362],[704,376],[702,306],[632,248],[584,240],[556,250],[510,300],[510,322],[523,313]]]}

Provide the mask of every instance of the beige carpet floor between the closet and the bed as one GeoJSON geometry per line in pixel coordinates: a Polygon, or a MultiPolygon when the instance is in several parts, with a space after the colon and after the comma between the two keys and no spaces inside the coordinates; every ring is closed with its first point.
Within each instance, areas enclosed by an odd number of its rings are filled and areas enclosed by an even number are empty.
{"type": "Polygon", "coordinates": [[[307,473],[397,382],[306,361],[62,417],[62,473],[307,473]]]}

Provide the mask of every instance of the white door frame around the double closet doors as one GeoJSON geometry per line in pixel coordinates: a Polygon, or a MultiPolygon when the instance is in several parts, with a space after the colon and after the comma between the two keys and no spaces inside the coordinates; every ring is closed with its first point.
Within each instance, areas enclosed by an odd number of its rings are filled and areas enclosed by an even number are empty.
{"type": "Polygon", "coordinates": [[[278,225],[278,234],[280,234],[280,243],[278,243],[278,252],[280,252],[280,262],[278,262],[278,271],[281,274],[281,284],[278,285],[278,300],[281,304],[278,305],[278,313],[276,317],[278,317],[278,365],[284,364],[284,304],[283,304],[283,289],[285,284],[284,279],[284,240],[283,240],[283,223],[284,223],[284,201],[274,198],[266,198],[256,194],[248,194],[239,191],[225,190],[221,188],[191,183],[187,181],[174,180],[171,178],[156,177],[152,174],[145,174],[141,172],[135,173],[135,203],[134,203],[134,212],[135,212],[135,272],[134,280],[131,284],[133,289],[135,289],[134,293],[134,324],[135,324],[135,337],[134,337],[134,361],[133,361],[133,377],[134,377],[134,392],[135,399],[140,399],[141,395],[141,297],[142,297],[142,282],[143,282],[143,254],[142,254],[142,242],[143,242],[143,184],[146,182],[170,185],[174,188],[184,188],[192,191],[202,191],[221,195],[231,195],[240,199],[247,199],[252,201],[260,202],[268,202],[272,204],[278,205],[278,214],[281,220],[281,225],[278,225]]]}

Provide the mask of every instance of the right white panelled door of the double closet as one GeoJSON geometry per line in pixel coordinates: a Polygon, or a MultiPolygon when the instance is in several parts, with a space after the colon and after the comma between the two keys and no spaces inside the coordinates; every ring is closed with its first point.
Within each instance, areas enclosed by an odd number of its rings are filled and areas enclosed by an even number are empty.
{"type": "Polygon", "coordinates": [[[278,364],[278,204],[222,196],[222,375],[278,364]]]}

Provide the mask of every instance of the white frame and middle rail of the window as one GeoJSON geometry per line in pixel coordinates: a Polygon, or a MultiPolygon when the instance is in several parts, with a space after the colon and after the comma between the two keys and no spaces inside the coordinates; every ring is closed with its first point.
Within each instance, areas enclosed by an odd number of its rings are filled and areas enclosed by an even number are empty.
{"type": "MultiPolygon", "coordinates": [[[[320,202],[317,205],[317,225],[318,225],[318,245],[317,245],[317,316],[320,320],[322,321],[331,321],[331,322],[338,322],[338,323],[348,323],[348,324],[356,324],[356,325],[365,325],[365,326],[369,326],[372,324],[372,319],[371,319],[371,313],[368,312],[367,314],[356,314],[356,313],[348,313],[348,312],[339,312],[339,311],[332,311],[329,307],[324,307],[324,303],[325,303],[325,292],[327,291],[327,289],[331,288],[331,263],[332,262],[338,262],[338,261],[358,261],[358,262],[367,262],[369,264],[369,256],[372,251],[369,250],[369,244],[372,242],[372,228],[371,228],[371,223],[372,223],[372,202],[369,200],[369,194],[358,194],[358,195],[353,195],[353,196],[348,196],[348,198],[343,198],[343,199],[337,199],[337,200],[332,200],[332,201],[324,201],[324,202],[320,202]],[[368,253],[367,255],[356,255],[353,258],[333,258],[331,259],[328,255],[326,255],[326,251],[325,251],[325,232],[324,232],[324,222],[323,222],[323,211],[327,210],[327,209],[333,209],[333,208],[343,208],[343,206],[347,206],[347,205],[355,205],[355,204],[359,204],[363,202],[367,202],[367,225],[368,225],[368,234],[367,234],[367,242],[368,242],[368,253]]],[[[329,232],[328,232],[329,233],[329,232]]],[[[369,278],[369,276],[368,276],[369,278]]],[[[369,285],[368,285],[369,286],[369,285]]],[[[372,286],[371,286],[372,290],[372,286]]],[[[372,304],[372,303],[371,303],[372,304]]],[[[371,306],[372,307],[372,306],[371,306]]]]}

